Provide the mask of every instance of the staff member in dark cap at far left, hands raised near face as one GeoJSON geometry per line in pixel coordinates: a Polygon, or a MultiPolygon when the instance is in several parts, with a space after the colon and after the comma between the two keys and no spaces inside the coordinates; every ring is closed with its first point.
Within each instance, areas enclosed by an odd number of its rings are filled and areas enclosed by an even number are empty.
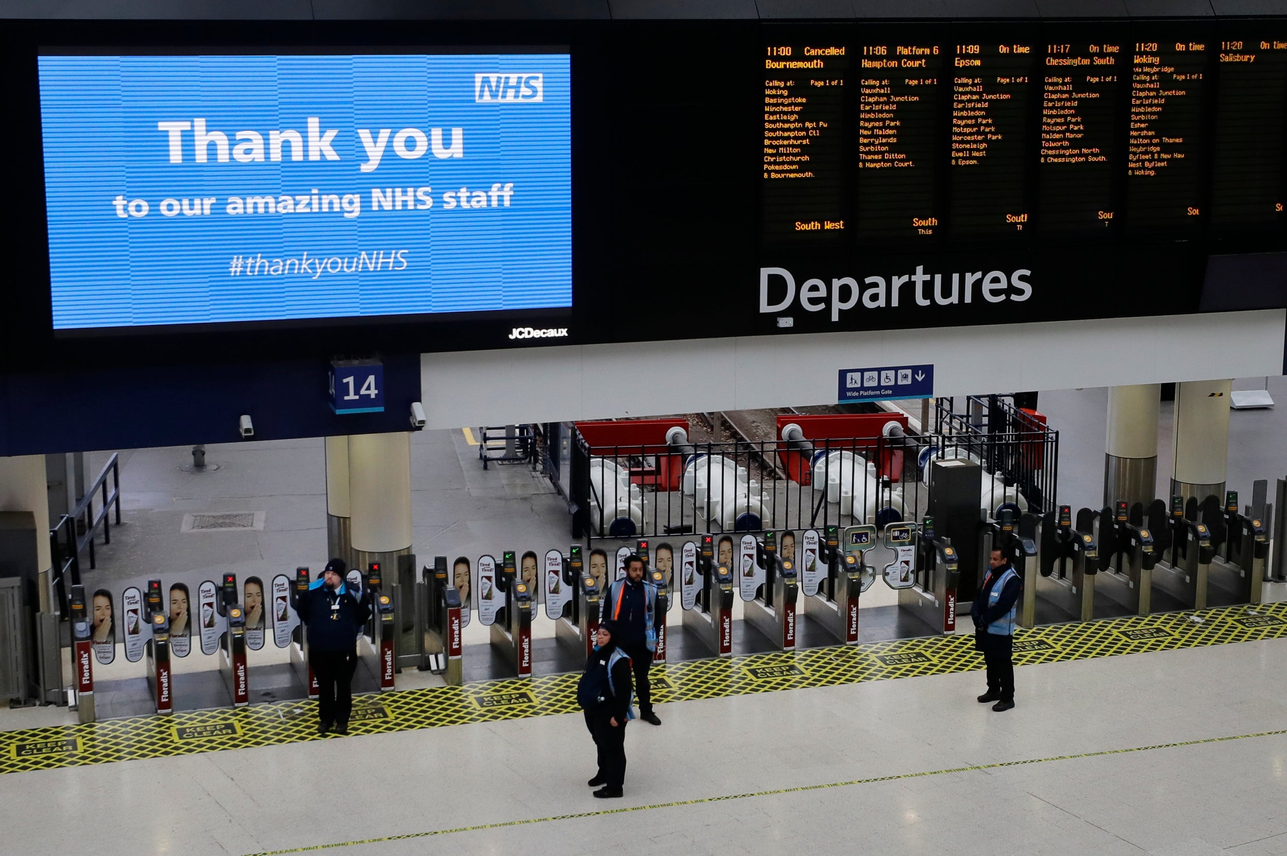
{"type": "Polygon", "coordinates": [[[358,633],[371,618],[371,608],[345,587],[345,568],[342,559],[328,561],[299,605],[309,632],[309,665],[318,680],[318,734],[332,725],[336,734],[349,734],[358,633]]]}

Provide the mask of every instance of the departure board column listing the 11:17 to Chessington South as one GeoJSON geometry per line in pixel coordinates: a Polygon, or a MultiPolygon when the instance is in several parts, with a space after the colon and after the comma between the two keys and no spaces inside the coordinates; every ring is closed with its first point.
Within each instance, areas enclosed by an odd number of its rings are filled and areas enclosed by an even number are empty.
{"type": "Polygon", "coordinates": [[[1121,44],[1045,46],[1037,223],[1042,234],[1112,230],[1120,167],[1117,97],[1121,44]]]}

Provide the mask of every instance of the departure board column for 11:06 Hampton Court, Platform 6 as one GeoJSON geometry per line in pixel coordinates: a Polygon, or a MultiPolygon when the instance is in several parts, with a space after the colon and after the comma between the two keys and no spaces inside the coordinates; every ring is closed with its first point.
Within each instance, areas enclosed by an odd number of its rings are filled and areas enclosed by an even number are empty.
{"type": "Polygon", "coordinates": [[[943,50],[864,45],[858,71],[858,237],[925,238],[938,230],[943,50]]]}

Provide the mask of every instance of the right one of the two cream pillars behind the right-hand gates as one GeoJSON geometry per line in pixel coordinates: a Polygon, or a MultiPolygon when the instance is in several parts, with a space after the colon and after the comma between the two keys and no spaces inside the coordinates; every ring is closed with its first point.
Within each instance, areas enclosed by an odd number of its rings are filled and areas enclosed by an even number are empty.
{"type": "Polygon", "coordinates": [[[1171,496],[1208,496],[1224,503],[1229,458],[1229,391],[1233,381],[1189,381],[1175,385],[1175,429],[1171,431],[1171,496]]]}

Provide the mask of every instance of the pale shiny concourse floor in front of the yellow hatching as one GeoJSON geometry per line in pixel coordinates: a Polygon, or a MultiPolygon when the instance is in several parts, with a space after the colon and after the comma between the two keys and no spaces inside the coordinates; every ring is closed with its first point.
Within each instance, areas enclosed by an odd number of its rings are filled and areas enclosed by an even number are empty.
{"type": "MultiPolygon", "coordinates": [[[[686,702],[591,798],[578,716],[0,777],[4,852],[252,853],[1287,727],[1287,640],[686,702]]],[[[1287,853],[1287,735],[338,847],[422,853],[1287,853]]]]}

